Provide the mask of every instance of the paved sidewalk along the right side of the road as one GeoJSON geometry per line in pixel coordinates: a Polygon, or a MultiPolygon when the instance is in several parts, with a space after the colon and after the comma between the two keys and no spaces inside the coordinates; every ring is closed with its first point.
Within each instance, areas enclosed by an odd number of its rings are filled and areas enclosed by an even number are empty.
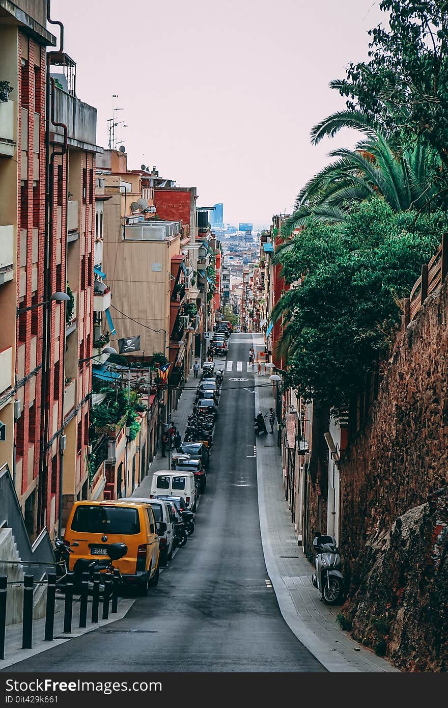
{"type": "MultiPolygon", "coordinates": [[[[255,376],[255,410],[268,411],[272,406],[271,387],[259,387],[268,380],[255,376]]],[[[398,672],[339,628],[340,607],[325,605],[312,585],[314,569],[297,544],[285,502],[276,437],[263,435],[256,440],[258,508],[266,568],[285,622],[331,672],[398,672]]]]}

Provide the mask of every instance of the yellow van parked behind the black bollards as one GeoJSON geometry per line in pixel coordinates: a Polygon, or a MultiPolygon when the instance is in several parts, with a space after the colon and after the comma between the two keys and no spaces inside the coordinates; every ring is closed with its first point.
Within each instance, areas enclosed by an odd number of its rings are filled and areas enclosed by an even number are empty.
{"type": "Polygon", "coordinates": [[[73,553],[69,570],[80,558],[107,556],[111,543],[125,543],[127,554],[114,561],[122,581],[146,595],[159,582],[159,535],[150,504],[130,501],[76,501],[71,509],[64,540],[73,553]]]}

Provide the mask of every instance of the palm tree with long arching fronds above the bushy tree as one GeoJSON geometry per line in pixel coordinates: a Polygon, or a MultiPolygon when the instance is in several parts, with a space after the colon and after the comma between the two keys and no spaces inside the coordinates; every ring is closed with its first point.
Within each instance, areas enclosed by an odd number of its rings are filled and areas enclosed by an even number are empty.
{"type": "Polygon", "coordinates": [[[283,236],[291,236],[308,219],[342,222],[352,207],[374,196],[383,197],[394,211],[440,206],[435,183],[440,159],[431,147],[422,142],[412,149],[393,147],[357,110],[340,111],[318,123],[311,131],[312,142],[317,144],[342,127],[360,130],[364,138],[353,150],[340,148],[330,153],[335,160],[297,195],[294,214],[283,224],[283,236]]]}

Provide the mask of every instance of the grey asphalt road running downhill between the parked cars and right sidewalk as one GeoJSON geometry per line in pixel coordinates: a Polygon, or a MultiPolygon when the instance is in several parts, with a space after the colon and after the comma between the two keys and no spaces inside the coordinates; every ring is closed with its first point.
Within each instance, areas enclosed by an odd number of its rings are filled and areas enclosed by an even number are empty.
{"type": "Polygon", "coordinates": [[[231,336],[228,359],[234,370],[224,374],[195,534],[163,569],[159,586],[119,622],[18,663],[12,671],[325,671],[282,619],[265,568],[253,374],[246,373],[249,346],[248,335],[231,336]],[[243,362],[242,372],[236,372],[237,361],[243,362]]]}

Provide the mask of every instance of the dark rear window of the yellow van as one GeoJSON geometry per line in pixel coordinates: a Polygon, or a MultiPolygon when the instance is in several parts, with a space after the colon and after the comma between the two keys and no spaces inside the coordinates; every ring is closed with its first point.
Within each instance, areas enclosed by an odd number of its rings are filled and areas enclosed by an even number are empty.
{"type": "Polygon", "coordinates": [[[123,506],[79,506],[71,522],[72,531],[134,535],[140,530],[137,509],[123,506]]]}

